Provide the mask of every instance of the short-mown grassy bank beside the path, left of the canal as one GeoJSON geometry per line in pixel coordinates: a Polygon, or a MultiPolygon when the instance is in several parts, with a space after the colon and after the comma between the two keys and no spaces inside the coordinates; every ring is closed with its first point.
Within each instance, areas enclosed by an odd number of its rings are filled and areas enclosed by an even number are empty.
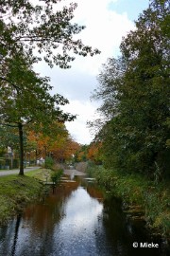
{"type": "Polygon", "coordinates": [[[28,203],[42,197],[45,191],[40,179],[46,176],[50,176],[49,170],[30,171],[24,176],[11,174],[0,177],[0,225],[7,223],[28,203]]]}

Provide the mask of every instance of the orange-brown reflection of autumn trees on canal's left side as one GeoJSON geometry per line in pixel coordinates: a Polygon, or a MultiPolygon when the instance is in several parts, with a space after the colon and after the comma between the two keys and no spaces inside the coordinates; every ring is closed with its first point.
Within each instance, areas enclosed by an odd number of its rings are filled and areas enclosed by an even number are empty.
{"type": "Polygon", "coordinates": [[[22,217],[20,234],[18,231],[21,216],[17,218],[15,224],[13,245],[8,244],[8,247],[12,247],[11,255],[15,255],[16,251],[16,255],[33,255],[37,252],[38,255],[46,256],[48,248],[53,247],[53,234],[58,227],[59,220],[64,216],[67,200],[72,192],[76,191],[78,184],[79,182],[60,184],[54,193],[44,199],[43,204],[34,204],[26,208],[22,217]],[[21,245],[21,239],[25,239],[24,234],[26,234],[26,241],[21,245]],[[20,247],[17,247],[17,243],[20,247]]]}

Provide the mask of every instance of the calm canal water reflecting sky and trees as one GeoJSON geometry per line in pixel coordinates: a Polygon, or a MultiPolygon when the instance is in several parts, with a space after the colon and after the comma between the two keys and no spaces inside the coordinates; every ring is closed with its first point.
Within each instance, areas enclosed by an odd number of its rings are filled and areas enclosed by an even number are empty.
{"type": "Polygon", "coordinates": [[[28,206],[0,228],[0,256],[167,253],[161,240],[144,229],[144,222],[127,218],[120,200],[106,196],[93,180],[82,176],[65,176],[42,202],[28,206]]]}

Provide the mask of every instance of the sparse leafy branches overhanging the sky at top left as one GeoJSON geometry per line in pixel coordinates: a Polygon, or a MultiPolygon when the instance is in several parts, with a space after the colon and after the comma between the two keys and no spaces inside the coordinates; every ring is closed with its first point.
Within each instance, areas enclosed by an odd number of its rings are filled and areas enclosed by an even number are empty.
{"type": "Polygon", "coordinates": [[[25,52],[31,62],[43,60],[50,66],[58,64],[70,67],[75,57],[99,53],[91,46],[84,46],[74,39],[84,26],[72,24],[76,4],[61,7],[59,0],[4,0],[0,8],[0,64],[6,79],[6,70],[11,57],[25,52]],[[36,54],[38,51],[39,54],[36,54]]]}

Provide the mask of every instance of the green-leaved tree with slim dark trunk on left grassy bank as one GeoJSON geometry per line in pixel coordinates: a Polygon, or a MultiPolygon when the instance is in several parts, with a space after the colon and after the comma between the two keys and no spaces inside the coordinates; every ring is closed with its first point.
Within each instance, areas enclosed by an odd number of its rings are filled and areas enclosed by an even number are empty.
{"type": "Polygon", "coordinates": [[[52,88],[48,78],[41,78],[31,68],[24,55],[13,59],[8,68],[8,79],[13,84],[2,82],[0,93],[1,125],[17,127],[20,138],[20,174],[24,174],[23,127],[33,123],[35,127],[42,125],[48,130],[54,120],[73,120],[76,117],[63,113],[59,105],[68,103],[59,94],[51,96],[52,88]],[[18,62],[20,65],[17,65],[18,62]],[[22,72],[22,76],[21,76],[22,72]],[[12,77],[13,75],[14,77],[12,77]]]}

